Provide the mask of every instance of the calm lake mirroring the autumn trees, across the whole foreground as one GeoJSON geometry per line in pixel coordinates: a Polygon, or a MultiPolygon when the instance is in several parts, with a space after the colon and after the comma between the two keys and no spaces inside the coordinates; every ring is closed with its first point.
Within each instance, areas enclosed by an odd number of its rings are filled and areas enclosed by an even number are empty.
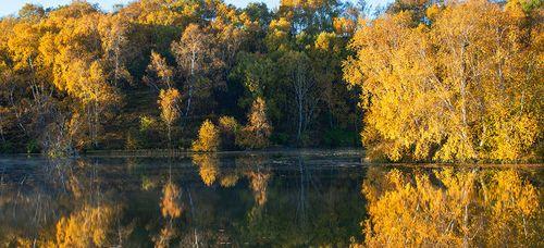
{"type": "Polygon", "coordinates": [[[0,157],[0,246],[543,247],[543,166],[358,150],[0,157]]]}

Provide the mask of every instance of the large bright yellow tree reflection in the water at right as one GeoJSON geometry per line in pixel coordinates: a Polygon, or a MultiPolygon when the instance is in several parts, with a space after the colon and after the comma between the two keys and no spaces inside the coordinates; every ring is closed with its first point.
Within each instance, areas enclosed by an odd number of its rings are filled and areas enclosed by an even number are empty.
{"type": "Polygon", "coordinates": [[[541,170],[370,168],[368,247],[542,247],[541,170]],[[530,181],[532,178],[532,181],[530,181]]]}

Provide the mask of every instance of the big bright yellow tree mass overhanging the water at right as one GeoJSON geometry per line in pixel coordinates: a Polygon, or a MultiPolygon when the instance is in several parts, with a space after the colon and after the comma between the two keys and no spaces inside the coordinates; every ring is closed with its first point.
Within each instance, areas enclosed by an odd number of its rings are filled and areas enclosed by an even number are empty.
{"type": "Polygon", "coordinates": [[[362,89],[369,153],[393,161],[527,157],[542,131],[537,39],[487,1],[432,5],[426,14],[432,25],[416,27],[408,12],[385,14],[351,40],[357,54],[344,77],[362,89]]]}

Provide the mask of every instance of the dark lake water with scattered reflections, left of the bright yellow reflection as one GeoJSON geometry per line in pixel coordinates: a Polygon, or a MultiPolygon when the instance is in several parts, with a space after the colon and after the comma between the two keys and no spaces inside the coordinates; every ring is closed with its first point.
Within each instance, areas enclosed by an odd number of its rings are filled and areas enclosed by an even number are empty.
{"type": "Polygon", "coordinates": [[[0,158],[0,246],[347,246],[362,238],[364,171],[333,165],[359,160],[0,158]]]}

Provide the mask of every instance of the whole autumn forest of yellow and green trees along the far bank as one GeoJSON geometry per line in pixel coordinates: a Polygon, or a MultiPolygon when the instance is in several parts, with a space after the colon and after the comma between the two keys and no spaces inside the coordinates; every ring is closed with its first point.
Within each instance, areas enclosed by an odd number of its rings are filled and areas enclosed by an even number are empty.
{"type": "Polygon", "coordinates": [[[140,0],[0,20],[0,151],[540,160],[540,0],[140,0]]]}

